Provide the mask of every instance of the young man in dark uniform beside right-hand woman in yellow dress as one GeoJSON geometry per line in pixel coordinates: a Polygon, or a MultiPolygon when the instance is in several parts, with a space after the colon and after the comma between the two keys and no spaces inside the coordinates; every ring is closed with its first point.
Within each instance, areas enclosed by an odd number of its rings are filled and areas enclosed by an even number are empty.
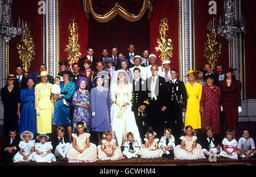
{"type": "Polygon", "coordinates": [[[187,90],[184,82],[177,79],[177,70],[171,69],[171,81],[166,82],[167,88],[167,112],[168,119],[166,127],[172,129],[176,140],[181,136],[183,125],[182,112],[187,109],[187,90]]]}

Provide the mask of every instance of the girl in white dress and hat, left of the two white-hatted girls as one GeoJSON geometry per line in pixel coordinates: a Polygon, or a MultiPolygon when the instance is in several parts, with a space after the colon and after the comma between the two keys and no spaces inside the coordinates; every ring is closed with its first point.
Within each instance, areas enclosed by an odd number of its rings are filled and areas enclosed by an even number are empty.
{"type": "Polygon", "coordinates": [[[19,152],[14,155],[14,162],[29,162],[33,160],[35,154],[35,140],[32,140],[34,134],[29,131],[25,131],[20,134],[19,152]]]}

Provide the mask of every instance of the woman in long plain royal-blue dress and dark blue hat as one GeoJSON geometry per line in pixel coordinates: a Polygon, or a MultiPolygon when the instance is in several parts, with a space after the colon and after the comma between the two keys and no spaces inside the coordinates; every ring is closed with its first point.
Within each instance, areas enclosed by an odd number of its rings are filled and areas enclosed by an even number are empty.
{"type": "Polygon", "coordinates": [[[35,110],[35,80],[36,75],[29,75],[25,82],[27,87],[20,91],[20,106],[22,108],[19,118],[19,132],[30,131],[37,133],[35,110]]]}

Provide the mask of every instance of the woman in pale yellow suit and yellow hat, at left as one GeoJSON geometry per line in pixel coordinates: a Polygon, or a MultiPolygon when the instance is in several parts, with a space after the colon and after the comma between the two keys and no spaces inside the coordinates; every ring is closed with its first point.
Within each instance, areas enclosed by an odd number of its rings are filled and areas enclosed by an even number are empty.
{"type": "Polygon", "coordinates": [[[47,82],[47,75],[47,71],[42,71],[37,76],[41,77],[42,82],[35,86],[35,109],[38,133],[52,133],[52,84],[47,82]]]}

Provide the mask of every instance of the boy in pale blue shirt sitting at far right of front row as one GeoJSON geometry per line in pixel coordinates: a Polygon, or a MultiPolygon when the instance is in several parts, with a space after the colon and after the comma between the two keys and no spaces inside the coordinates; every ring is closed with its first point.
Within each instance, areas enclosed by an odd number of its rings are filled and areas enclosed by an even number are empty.
{"type": "Polygon", "coordinates": [[[243,130],[242,137],[238,140],[237,154],[239,158],[249,159],[256,154],[253,138],[250,137],[249,130],[243,130]]]}

